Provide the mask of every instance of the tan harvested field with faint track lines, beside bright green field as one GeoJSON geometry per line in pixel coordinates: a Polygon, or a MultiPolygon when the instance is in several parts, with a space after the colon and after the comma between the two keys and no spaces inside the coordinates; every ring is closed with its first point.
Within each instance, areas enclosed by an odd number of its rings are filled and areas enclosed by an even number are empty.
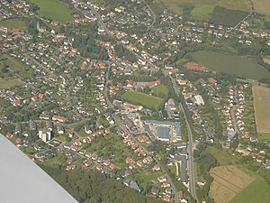
{"type": "Polygon", "coordinates": [[[228,203],[256,180],[255,177],[232,165],[216,167],[210,171],[210,174],[214,179],[211,183],[210,194],[216,203],[228,203]]]}

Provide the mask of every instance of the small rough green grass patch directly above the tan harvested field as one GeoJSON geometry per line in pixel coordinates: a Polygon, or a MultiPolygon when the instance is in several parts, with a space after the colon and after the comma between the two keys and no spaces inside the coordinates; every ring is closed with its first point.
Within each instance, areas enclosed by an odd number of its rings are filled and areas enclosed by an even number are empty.
{"type": "Polygon", "coordinates": [[[211,152],[211,154],[217,159],[217,161],[220,163],[220,166],[226,166],[233,164],[233,158],[229,152],[227,152],[225,149],[219,150],[213,146],[208,146],[206,148],[207,152],[211,152]]]}

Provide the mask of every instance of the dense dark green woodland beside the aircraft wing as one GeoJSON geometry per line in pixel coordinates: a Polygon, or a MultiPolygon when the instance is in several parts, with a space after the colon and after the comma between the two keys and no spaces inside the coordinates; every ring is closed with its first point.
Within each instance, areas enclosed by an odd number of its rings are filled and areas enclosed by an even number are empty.
{"type": "Polygon", "coordinates": [[[161,200],[139,195],[134,189],[108,178],[99,171],[65,171],[41,165],[44,171],[74,197],[78,202],[91,203],[161,203],[161,200]]]}

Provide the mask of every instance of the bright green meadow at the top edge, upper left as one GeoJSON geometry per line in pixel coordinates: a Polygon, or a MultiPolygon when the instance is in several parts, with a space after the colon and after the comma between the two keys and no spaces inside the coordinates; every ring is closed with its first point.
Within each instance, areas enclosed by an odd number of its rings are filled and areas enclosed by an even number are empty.
{"type": "Polygon", "coordinates": [[[40,7],[38,10],[40,17],[44,16],[59,23],[68,23],[74,19],[67,3],[60,0],[31,0],[31,2],[40,7]]]}

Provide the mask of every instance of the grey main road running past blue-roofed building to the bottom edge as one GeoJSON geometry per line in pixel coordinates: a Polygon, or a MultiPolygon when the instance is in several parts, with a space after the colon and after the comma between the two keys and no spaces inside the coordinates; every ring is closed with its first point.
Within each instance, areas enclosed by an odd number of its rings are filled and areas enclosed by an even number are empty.
{"type": "MultiPolygon", "coordinates": [[[[175,83],[175,79],[170,77],[171,81],[173,83],[173,88],[175,89],[176,95],[179,97],[180,96],[180,90],[177,87],[175,83]]],[[[191,130],[191,127],[189,125],[189,122],[187,120],[187,117],[184,113],[184,108],[181,103],[179,103],[179,109],[182,110],[184,114],[184,120],[185,120],[185,125],[187,128],[187,136],[188,136],[188,145],[187,145],[187,152],[188,152],[188,171],[189,171],[189,188],[190,188],[190,193],[193,196],[193,198],[196,200],[196,202],[199,202],[197,195],[196,195],[196,189],[195,189],[195,178],[194,178],[194,171],[193,171],[193,133],[191,130]]]]}

